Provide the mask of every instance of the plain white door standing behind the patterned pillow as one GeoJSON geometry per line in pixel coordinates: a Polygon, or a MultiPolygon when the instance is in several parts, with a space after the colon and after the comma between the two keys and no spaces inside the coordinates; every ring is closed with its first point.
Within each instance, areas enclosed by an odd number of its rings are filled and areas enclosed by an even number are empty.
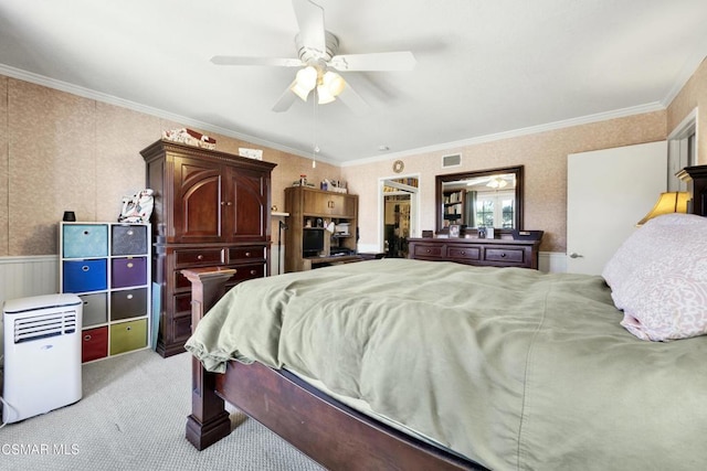
{"type": "Polygon", "coordinates": [[[666,141],[570,153],[567,271],[601,275],[666,186],[666,141]]]}

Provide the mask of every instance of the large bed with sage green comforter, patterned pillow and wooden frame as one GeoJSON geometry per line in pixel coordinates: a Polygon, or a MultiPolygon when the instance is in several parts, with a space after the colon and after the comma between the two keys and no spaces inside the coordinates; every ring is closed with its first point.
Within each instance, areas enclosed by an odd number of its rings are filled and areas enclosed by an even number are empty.
{"type": "Polygon", "coordinates": [[[221,297],[192,270],[187,438],[228,435],[225,399],[328,469],[695,469],[704,234],[653,220],[603,277],[382,259],[221,297]]]}

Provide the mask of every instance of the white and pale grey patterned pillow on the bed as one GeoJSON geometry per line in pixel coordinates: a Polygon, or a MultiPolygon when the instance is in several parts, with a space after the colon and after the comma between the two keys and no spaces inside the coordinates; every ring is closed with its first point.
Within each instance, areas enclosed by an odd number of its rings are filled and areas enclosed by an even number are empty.
{"type": "Polygon", "coordinates": [[[707,333],[707,217],[666,214],[633,233],[602,276],[621,321],[643,340],[707,333]]]}

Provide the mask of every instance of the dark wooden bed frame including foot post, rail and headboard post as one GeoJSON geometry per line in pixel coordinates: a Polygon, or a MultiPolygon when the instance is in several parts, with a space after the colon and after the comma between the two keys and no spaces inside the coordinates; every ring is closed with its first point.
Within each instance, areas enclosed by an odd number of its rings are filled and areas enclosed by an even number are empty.
{"type": "MultiPolygon", "coordinates": [[[[688,212],[707,216],[707,165],[678,176],[692,195],[688,212]]],[[[192,282],[192,329],[220,299],[233,269],[182,271],[192,282]]],[[[224,399],[327,469],[484,470],[317,392],[286,371],[230,362],[225,374],[207,372],[192,358],[192,414],[187,439],[199,450],[231,432],[224,399]]]]}

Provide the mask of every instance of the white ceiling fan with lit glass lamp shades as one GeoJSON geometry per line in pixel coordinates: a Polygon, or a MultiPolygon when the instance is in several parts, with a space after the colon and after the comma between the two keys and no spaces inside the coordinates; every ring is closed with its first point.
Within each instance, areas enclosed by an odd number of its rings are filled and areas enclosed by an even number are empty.
{"type": "Polygon", "coordinates": [[[319,105],[340,99],[361,115],[368,109],[366,101],[336,72],[411,71],[415,66],[412,52],[381,52],[370,54],[338,54],[339,40],[324,26],[324,9],[310,0],[293,0],[299,34],[295,36],[298,58],[247,57],[215,55],[217,65],[265,65],[299,67],[293,83],[279,97],[274,111],[286,111],[296,97],[307,101],[314,95],[319,105]],[[333,71],[334,69],[334,71],[333,71]]]}

